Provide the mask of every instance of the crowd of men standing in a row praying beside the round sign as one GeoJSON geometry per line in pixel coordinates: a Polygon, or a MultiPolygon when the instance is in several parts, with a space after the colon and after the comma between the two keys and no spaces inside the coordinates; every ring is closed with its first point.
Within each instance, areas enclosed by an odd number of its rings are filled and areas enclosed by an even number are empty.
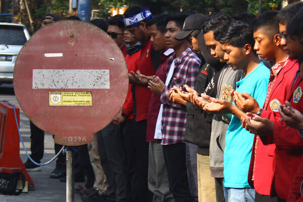
{"type": "Polygon", "coordinates": [[[121,48],[129,89],[79,148],[83,201],[303,201],[303,3],[258,17],[134,5],[91,23],[121,48]]]}

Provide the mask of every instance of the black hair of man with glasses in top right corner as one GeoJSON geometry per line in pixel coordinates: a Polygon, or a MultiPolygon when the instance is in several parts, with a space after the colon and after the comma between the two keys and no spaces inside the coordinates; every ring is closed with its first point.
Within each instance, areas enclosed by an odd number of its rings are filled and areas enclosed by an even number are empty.
{"type": "Polygon", "coordinates": [[[303,2],[294,2],[281,9],[277,15],[279,23],[286,25],[291,18],[303,7],[303,2]]]}

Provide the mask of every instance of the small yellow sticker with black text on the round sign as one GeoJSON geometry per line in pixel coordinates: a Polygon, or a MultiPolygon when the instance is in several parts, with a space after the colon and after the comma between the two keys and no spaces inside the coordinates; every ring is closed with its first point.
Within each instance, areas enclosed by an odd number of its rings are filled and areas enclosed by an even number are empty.
{"type": "Polygon", "coordinates": [[[92,106],[90,92],[49,92],[50,106],[92,106]]]}

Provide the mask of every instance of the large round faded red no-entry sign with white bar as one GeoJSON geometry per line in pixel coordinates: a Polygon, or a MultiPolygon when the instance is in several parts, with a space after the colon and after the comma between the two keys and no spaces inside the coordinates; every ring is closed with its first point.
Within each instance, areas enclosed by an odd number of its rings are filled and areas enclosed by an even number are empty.
{"type": "Polygon", "coordinates": [[[122,108],[128,71],[120,48],[103,30],[64,20],[38,30],[14,69],[20,107],[55,142],[81,145],[122,108]]]}

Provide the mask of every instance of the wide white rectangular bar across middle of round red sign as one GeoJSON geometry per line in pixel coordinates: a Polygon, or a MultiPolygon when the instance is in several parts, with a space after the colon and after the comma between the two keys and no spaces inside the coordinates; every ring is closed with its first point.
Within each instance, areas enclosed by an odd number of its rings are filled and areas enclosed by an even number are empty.
{"type": "Polygon", "coordinates": [[[33,69],[33,89],[109,89],[110,70],[33,69]]]}

